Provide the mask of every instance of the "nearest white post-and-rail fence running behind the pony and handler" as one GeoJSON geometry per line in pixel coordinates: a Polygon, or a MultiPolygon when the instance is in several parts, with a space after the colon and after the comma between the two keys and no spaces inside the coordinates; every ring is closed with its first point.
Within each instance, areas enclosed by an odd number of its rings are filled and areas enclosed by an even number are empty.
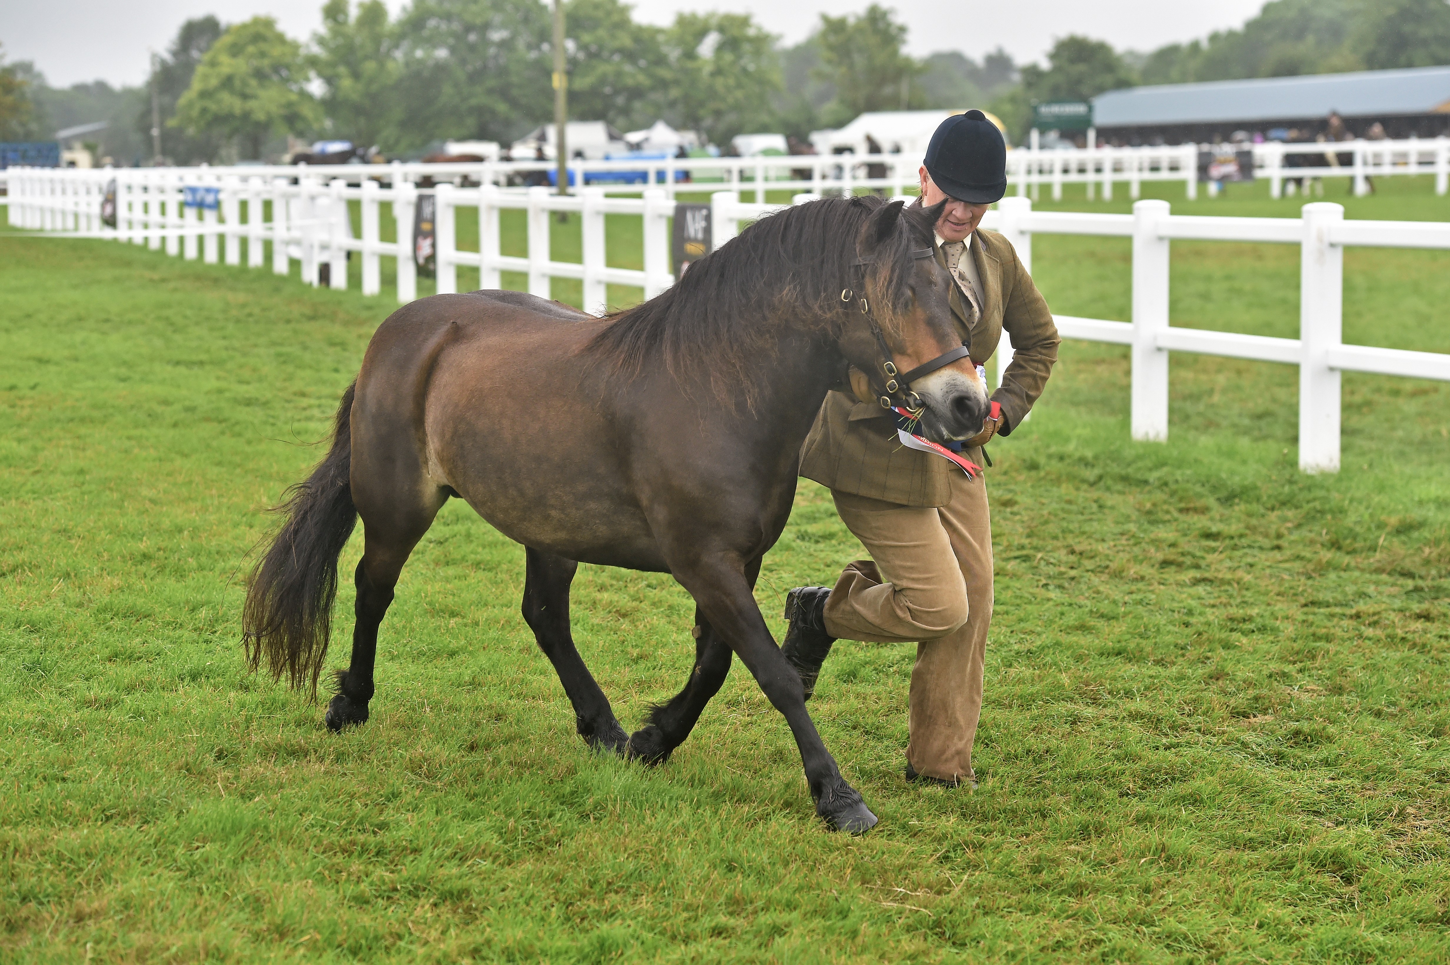
{"type": "MultiPolygon", "coordinates": [[[[20,170],[12,171],[10,225],[67,235],[107,238],[119,242],[165,248],[170,255],[202,258],[207,264],[265,264],[271,246],[271,268],[289,274],[291,261],[302,262],[302,278],[319,284],[328,265],[328,284],[347,288],[348,252],[361,255],[362,294],[381,290],[380,258],[397,262],[397,300],[418,296],[413,254],[413,214],[418,187],[397,178],[389,187],[364,180],[349,187],[345,180],[323,184],[303,174],[297,184],[283,177],[241,178],[209,170],[142,170],[117,178],[116,227],[100,223],[100,203],[109,171],[20,170]],[[186,187],[216,187],[216,209],[199,213],[184,207],[186,187]],[[245,217],[242,204],[245,201],[245,217]],[[357,203],[361,238],[352,232],[349,203],[357,203]],[[380,238],[380,209],[392,206],[397,239],[380,238]],[[270,220],[264,213],[270,210],[270,220]],[[220,216],[220,217],[219,217],[220,216]],[[200,242],[199,242],[200,239],[200,242]]],[[[800,193],[792,203],[816,197],[800,193]]],[[[609,197],[600,187],[586,187],[576,196],[558,196],[545,187],[508,190],[496,184],[458,188],[444,183],[435,188],[436,290],[457,291],[458,267],[474,267],[480,287],[499,287],[502,272],[526,274],[528,290],[552,297],[552,278],[583,283],[583,304],[600,312],[606,285],[637,285],[645,297],[673,283],[670,267],[670,219],[674,204],[655,185],[642,197],[609,197]],[[460,210],[474,209],[478,217],[478,251],[461,251],[457,243],[460,210]],[[500,213],[522,210],[526,217],[526,256],[505,255],[500,245],[500,213]],[[555,261],[550,249],[550,219],[555,212],[581,219],[581,259],[555,261]],[[638,216],[642,270],[609,264],[605,217],[638,216]]],[[[724,245],[735,236],[740,222],[779,210],[779,204],[742,201],[737,191],[710,194],[712,242],[724,245]]],[[[1066,233],[1132,239],[1132,320],[1057,316],[1064,338],[1114,342],[1131,346],[1132,438],[1164,440],[1169,432],[1169,352],[1196,352],[1299,367],[1299,467],[1308,472],[1335,471],[1340,465],[1340,374],[1405,375],[1450,381],[1450,354],[1411,352],[1343,343],[1343,252],[1347,245],[1376,248],[1450,249],[1450,223],[1344,220],[1338,204],[1304,206],[1302,217],[1205,217],[1172,214],[1167,201],[1144,200],[1132,214],[1079,212],[1034,212],[1025,197],[1005,197],[989,212],[983,225],[1000,230],[1016,248],[1028,271],[1032,267],[1032,235],[1066,233]],[[1301,246],[1299,338],[1266,338],[1232,332],[1186,329],[1169,319],[1169,246],[1172,241],[1237,241],[1301,246]]],[[[1003,342],[996,372],[1011,359],[1003,342]]]]}

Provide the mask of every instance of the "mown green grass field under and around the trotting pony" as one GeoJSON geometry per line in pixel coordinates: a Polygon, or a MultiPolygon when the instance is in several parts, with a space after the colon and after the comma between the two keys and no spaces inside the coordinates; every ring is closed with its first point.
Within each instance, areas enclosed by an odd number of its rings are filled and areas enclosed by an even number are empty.
{"type": "MultiPolygon", "coordinates": [[[[1347,206],[1450,220],[1422,180],[1347,206]]],[[[1128,317],[1125,241],[1034,249],[1057,312],[1128,317]]],[[[104,242],[0,238],[0,961],[1450,958],[1450,385],[1346,375],[1344,471],[1305,477],[1292,368],[1176,355],[1144,445],[1127,351],[1066,343],[993,446],[980,787],[905,784],[912,648],[842,642],[811,707],[882,817],[851,839],[738,662],[666,766],[589,753],[522,551],[457,500],[371,722],[328,733],[246,674],[242,575],[389,296],[104,242]]],[[[1347,252],[1346,341],[1450,351],[1447,304],[1450,252],[1347,252]]],[[[1173,314],[1295,335],[1298,249],[1176,242],[1173,314]]],[[[771,626],[858,552],[802,482],[771,626]]],[[[637,726],[689,671],[692,606],[658,575],[574,587],[637,726]]]]}

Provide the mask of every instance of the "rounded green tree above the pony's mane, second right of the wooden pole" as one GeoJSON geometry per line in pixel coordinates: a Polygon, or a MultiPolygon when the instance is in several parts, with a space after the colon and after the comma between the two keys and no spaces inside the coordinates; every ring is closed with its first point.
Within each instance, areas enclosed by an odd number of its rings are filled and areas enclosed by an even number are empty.
{"type": "Polygon", "coordinates": [[[680,13],[664,32],[667,112],[715,143],[773,120],[776,38],[745,13],[680,13]]]}

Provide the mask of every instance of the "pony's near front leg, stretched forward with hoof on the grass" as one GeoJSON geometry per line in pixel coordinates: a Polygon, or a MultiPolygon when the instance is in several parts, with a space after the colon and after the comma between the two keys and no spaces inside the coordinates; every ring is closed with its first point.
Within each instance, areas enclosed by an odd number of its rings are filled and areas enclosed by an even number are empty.
{"type": "Polygon", "coordinates": [[[740,655],[760,684],[766,698],[790,724],[790,733],[800,749],[811,797],[816,814],[835,830],[860,835],[876,824],[876,814],[866,807],[861,795],[845,782],[835,758],[825,749],[815,723],[806,711],[800,675],[780,653],[770,627],[755,606],[755,597],[741,561],[726,556],[696,558],[680,565],[671,561],[674,578],[690,591],[716,632],[740,655]]]}

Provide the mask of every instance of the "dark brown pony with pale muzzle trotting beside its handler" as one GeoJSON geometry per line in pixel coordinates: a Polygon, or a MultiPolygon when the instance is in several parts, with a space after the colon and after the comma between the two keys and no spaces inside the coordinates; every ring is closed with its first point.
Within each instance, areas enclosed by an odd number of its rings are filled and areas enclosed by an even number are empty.
{"type": "Polygon", "coordinates": [[[361,516],[352,662],[326,723],[365,722],[399,571],[457,496],[526,548],[523,619],[590,746],[666,761],[734,652],[790,724],[816,813],[867,830],[876,816],[816,733],[753,587],[790,516],[800,445],[848,364],[935,440],[982,427],[986,387],[931,256],[938,214],[874,197],[799,204],[605,319],[508,291],[399,309],[342,396],[332,449],[290,491],[287,522],[252,571],[252,668],[265,662],[316,694],[338,555],[361,516]],[[695,598],[689,681],[632,736],[574,649],[579,561],[670,572],[695,598]]]}

